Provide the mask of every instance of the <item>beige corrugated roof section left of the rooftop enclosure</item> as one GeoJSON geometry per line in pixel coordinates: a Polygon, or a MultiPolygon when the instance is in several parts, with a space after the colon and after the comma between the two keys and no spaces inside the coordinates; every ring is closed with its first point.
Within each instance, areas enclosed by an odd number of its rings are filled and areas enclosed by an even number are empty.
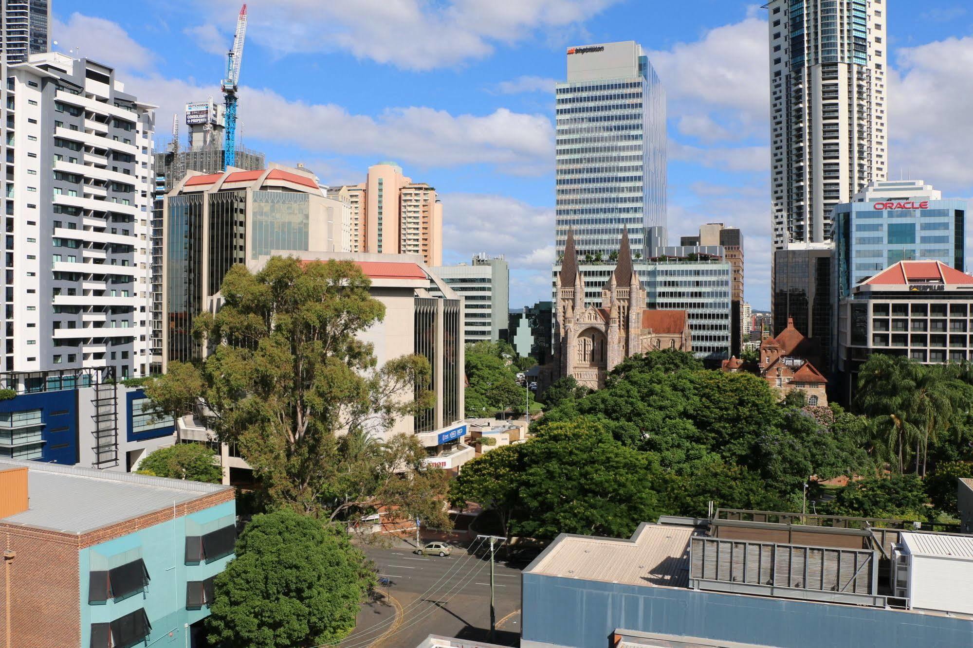
{"type": "Polygon", "coordinates": [[[561,535],[531,574],[627,585],[689,585],[692,527],[643,523],[631,540],[561,535]]]}

